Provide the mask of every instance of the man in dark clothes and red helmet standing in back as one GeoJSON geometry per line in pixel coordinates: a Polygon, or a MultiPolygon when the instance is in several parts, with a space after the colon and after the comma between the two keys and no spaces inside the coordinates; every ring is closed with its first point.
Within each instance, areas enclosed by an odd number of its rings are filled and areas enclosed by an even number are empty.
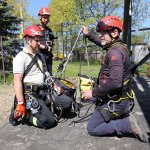
{"type": "Polygon", "coordinates": [[[49,73],[52,74],[52,61],[53,61],[52,49],[54,46],[55,37],[53,35],[52,30],[49,27],[47,27],[50,15],[51,13],[49,11],[49,8],[42,7],[38,13],[38,16],[40,17],[40,23],[37,24],[37,26],[39,26],[43,32],[43,37],[40,44],[40,51],[46,59],[46,64],[49,73]]]}

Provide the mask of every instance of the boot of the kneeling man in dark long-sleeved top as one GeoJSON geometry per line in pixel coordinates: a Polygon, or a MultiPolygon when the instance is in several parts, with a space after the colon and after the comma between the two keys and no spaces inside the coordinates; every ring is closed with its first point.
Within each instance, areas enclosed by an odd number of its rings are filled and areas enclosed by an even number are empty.
{"type": "Polygon", "coordinates": [[[129,116],[129,121],[131,124],[132,131],[136,138],[141,142],[147,143],[146,136],[142,133],[142,130],[140,129],[135,117],[132,114],[130,114],[129,116]]]}

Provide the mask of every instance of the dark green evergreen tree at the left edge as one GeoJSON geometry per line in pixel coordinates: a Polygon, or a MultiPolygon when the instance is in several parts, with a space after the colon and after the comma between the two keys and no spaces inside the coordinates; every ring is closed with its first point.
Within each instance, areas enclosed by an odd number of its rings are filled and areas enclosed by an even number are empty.
{"type": "Polygon", "coordinates": [[[4,60],[7,61],[9,67],[11,67],[13,56],[23,44],[18,38],[21,19],[14,16],[11,10],[12,7],[6,1],[0,1],[0,36],[3,40],[4,60]]]}

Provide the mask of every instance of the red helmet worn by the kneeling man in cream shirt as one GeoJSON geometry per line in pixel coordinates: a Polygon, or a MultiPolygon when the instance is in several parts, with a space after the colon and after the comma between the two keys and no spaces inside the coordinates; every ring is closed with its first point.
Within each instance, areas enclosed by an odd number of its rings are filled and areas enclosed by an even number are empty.
{"type": "Polygon", "coordinates": [[[31,26],[28,26],[23,32],[23,37],[26,37],[26,36],[31,36],[31,37],[43,36],[43,34],[42,34],[42,30],[40,27],[36,25],[31,25],[31,26]]]}

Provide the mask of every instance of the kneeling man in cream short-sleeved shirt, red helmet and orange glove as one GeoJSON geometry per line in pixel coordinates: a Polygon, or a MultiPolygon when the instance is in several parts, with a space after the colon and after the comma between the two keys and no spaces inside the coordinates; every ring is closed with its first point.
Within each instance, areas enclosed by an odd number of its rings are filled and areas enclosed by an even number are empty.
{"type": "Polygon", "coordinates": [[[38,53],[42,30],[31,25],[24,30],[23,37],[25,47],[13,60],[15,100],[9,121],[14,126],[22,121],[51,128],[56,121],[40,95],[47,71],[44,57],[38,53]]]}

